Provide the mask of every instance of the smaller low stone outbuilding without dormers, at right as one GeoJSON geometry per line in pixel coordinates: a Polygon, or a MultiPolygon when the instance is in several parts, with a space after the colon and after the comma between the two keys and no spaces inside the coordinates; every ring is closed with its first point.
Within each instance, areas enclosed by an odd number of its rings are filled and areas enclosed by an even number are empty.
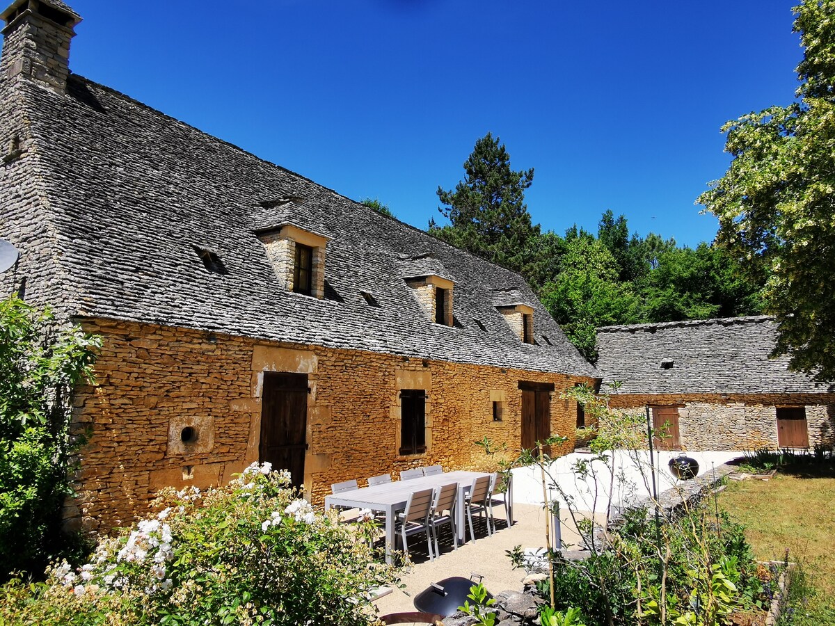
{"type": "Polygon", "coordinates": [[[769,317],[605,326],[597,331],[612,406],[644,411],[668,449],[753,450],[835,444],[831,386],[769,359],[769,317]]]}

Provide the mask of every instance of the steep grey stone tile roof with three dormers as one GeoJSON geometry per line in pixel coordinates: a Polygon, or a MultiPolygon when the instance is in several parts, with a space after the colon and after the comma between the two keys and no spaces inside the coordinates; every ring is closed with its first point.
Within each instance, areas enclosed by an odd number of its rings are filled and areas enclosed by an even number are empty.
{"type": "Polygon", "coordinates": [[[66,94],[18,88],[67,276],[53,300],[78,316],[595,375],[509,270],[77,75],[66,94]],[[287,221],[331,237],[324,300],[277,284],[255,233],[287,221]],[[207,270],[195,248],[225,272],[207,270]],[[427,320],[404,255],[431,255],[454,277],[456,326],[427,320]],[[509,285],[534,305],[539,345],[519,341],[493,306],[491,290],[509,285]]]}

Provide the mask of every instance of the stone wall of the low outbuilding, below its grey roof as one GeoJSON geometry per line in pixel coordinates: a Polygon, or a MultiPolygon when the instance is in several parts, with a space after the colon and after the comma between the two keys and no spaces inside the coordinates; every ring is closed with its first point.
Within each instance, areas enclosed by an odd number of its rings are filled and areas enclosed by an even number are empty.
{"type": "Polygon", "coordinates": [[[679,408],[686,450],[777,448],[777,406],[805,406],[809,445],[835,445],[835,394],[656,394],[611,396],[611,405],[679,408]]]}

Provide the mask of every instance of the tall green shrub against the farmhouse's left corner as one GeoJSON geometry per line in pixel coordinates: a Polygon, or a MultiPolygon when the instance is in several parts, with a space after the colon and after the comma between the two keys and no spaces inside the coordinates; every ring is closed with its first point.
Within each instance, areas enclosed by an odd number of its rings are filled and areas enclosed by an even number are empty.
{"type": "Polygon", "coordinates": [[[43,573],[66,548],[61,506],[79,441],[69,432],[69,392],[89,378],[99,340],[55,331],[48,312],[0,300],[0,581],[43,573]]]}

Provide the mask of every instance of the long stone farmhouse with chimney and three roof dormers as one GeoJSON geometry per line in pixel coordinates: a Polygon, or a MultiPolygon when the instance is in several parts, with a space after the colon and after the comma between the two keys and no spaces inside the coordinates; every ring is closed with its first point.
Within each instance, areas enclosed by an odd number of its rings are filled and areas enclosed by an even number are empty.
{"type": "Polygon", "coordinates": [[[104,342],[68,519],[124,525],[254,461],[318,501],[573,431],[559,394],[596,371],[519,275],[70,73],[60,0],[0,17],[0,297],[104,342]]]}

